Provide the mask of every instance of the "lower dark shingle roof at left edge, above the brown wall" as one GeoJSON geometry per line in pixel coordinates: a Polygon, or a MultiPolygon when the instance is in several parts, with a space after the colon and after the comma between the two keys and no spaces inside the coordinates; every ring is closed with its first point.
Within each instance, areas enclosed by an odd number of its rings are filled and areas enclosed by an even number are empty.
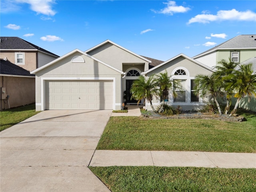
{"type": "Polygon", "coordinates": [[[20,66],[17,66],[10,61],[3,59],[0,60],[0,73],[5,75],[35,76],[20,66]]]}

